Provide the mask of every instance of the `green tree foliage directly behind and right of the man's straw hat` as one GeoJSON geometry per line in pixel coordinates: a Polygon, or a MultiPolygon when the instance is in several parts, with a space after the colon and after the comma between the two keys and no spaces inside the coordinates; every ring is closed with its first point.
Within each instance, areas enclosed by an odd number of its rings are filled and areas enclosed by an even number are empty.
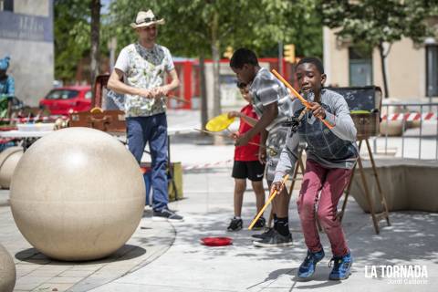
{"type": "Polygon", "coordinates": [[[296,43],[299,54],[321,56],[321,19],[315,5],[314,0],[119,0],[110,5],[110,31],[119,49],[130,44],[136,39],[130,23],[138,11],[152,9],[166,20],[160,43],[171,47],[173,55],[212,57],[216,40],[221,52],[228,46],[249,47],[270,55],[270,48],[284,41],[296,43]]]}

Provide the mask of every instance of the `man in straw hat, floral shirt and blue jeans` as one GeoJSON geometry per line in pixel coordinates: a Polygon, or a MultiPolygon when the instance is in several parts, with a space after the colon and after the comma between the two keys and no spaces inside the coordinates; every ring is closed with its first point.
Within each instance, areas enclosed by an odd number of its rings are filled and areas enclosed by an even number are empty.
{"type": "Polygon", "coordinates": [[[155,43],[158,19],[151,10],[137,14],[130,24],[139,36],[138,42],[120,51],[108,82],[109,89],[125,94],[128,146],[140,163],[146,143],[151,149],[152,220],[183,221],[169,210],[167,189],[167,120],[165,97],[179,86],[171,52],[155,43]],[[172,82],[164,84],[167,72],[172,82]],[[123,80],[123,81],[122,81],[123,80]]]}

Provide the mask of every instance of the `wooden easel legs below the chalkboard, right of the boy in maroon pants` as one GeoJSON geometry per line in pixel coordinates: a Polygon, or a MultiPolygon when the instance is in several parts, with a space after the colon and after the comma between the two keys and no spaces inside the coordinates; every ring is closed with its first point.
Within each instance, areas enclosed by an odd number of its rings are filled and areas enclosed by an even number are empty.
{"type": "Polygon", "coordinates": [[[370,155],[370,162],[371,162],[371,166],[372,166],[372,172],[373,172],[372,174],[374,175],[374,177],[376,179],[377,189],[378,189],[380,196],[381,196],[381,204],[383,206],[383,212],[381,212],[380,214],[376,214],[374,212],[374,207],[373,207],[374,202],[372,201],[372,199],[370,197],[370,190],[368,188],[368,183],[367,183],[367,179],[365,177],[365,172],[363,171],[362,160],[361,160],[360,155],[359,155],[358,162],[354,165],[353,170],[351,172],[351,176],[349,178],[349,184],[348,184],[347,189],[345,191],[345,199],[344,199],[344,203],[342,203],[342,209],[337,216],[339,217],[339,221],[342,221],[342,218],[343,218],[344,212],[345,212],[345,207],[347,206],[347,201],[349,199],[349,190],[351,189],[351,183],[353,182],[353,177],[354,177],[354,172],[356,170],[356,165],[359,165],[359,171],[360,171],[360,177],[362,179],[363,191],[365,192],[366,199],[368,201],[368,204],[370,205],[370,214],[372,217],[372,223],[374,224],[374,230],[376,231],[376,234],[379,235],[379,233],[380,233],[379,222],[382,219],[386,219],[386,223],[388,224],[388,226],[391,226],[390,214],[388,212],[388,205],[386,203],[386,197],[381,192],[381,182],[379,180],[379,175],[377,173],[376,164],[374,163],[374,158],[372,156],[372,151],[370,148],[370,142],[368,141],[368,137],[364,137],[364,138],[358,137],[358,140],[359,140],[359,152],[360,152],[360,147],[362,146],[362,142],[365,141],[365,143],[367,144],[367,149],[368,149],[368,153],[370,155]]]}

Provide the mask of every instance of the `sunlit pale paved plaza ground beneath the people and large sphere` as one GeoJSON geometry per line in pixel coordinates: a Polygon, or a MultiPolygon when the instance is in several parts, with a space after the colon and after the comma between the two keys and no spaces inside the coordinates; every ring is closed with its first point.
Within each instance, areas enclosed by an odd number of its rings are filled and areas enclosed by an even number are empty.
{"type": "MultiPolygon", "coordinates": [[[[185,114],[171,114],[172,123],[196,127],[185,114]]],[[[436,291],[438,287],[438,214],[394,212],[391,226],[381,221],[376,235],[370,220],[350,197],[344,216],[344,229],[354,257],[352,274],[346,281],[329,281],[331,257],[326,235],[321,239],[326,257],[318,264],[313,280],[297,279],[297,267],[306,256],[293,193],[290,227],[294,245],[283,248],[257,248],[254,231],[226,232],[233,215],[231,162],[234,147],[213,146],[206,138],[172,138],[173,161],[183,162],[184,199],[171,203],[183,214],[178,224],[151,220],[151,209],[144,210],[141,224],[130,240],[115,254],[85,263],[57,262],[29,245],[19,233],[8,205],[8,191],[0,192],[0,243],[16,262],[15,291],[436,291]],[[203,163],[214,167],[199,166],[203,163]],[[233,245],[207,247],[204,236],[230,236],[233,245]],[[427,277],[388,277],[379,266],[425,266],[427,277]],[[377,266],[377,276],[371,276],[377,266]],[[405,282],[405,283],[403,283],[405,282]],[[408,283],[409,282],[409,283],[408,283]]],[[[390,148],[397,148],[395,141],[390,148]]],[[[433,141],[431,141],[432,143],[433,141]]],[[[432,144],[431,144],[432,145],[432,144]]],[[[427,155],[433,155],[433,145],[427,155]]],[[[383,182],[384,183],[384,182],[383,182]]],[[[435,182],[433,182],[435,183],[435,182]]],[[[255,215],[255,195],[245,193],[245,227],[255,215]]]]}

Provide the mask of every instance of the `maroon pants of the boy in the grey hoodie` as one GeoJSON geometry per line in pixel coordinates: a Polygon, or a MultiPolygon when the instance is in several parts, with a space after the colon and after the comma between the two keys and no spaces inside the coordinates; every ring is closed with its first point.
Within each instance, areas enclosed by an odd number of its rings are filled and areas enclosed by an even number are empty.
{"type": "Polygon", "coordinates": [[[348,169],[330,169],[311,160],[306,162],[306,172],[297,206],[304,239],[308,249],[312,252],[317,252],[322,248],[315,215],[318,215],[319,224],[328,235],[333,255],[341,256],[349,252],[342,226],[336,214],[339,199],[349,183],[350,173],[351,170],[348,169]]]}

